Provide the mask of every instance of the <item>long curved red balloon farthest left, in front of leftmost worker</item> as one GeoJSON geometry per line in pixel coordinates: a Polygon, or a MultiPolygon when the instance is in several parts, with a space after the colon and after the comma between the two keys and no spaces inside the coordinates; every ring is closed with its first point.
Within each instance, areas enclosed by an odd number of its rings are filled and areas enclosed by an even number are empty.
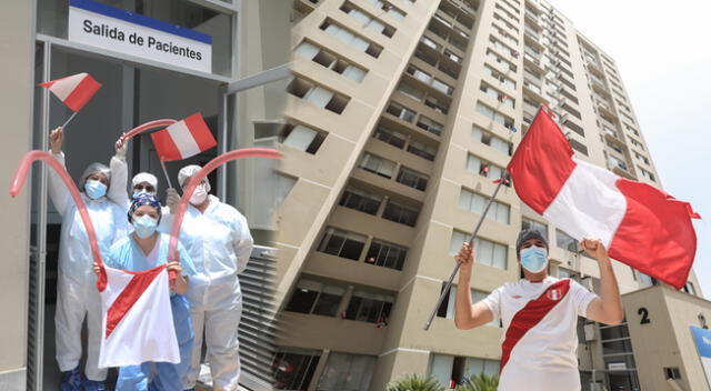
{"type": "Polygon", "coordinates": [[[81,198],[79,193],[79,189],[74,184],[74,181],[69,176],[69,172],[62,167],[62,164],[54,159],[51,154],[44,151],[29,151],[24,154],[20,164],[18,166],[18,170],[12,177],[12,182],[10,184],[10,196],[17,197],[22,190],[22,186],[27,180],[27,173],[32,167],[32,163],[37,160],[41,160],[47,163],[49,167],[54,169],[59,174],[59,178],[62,179],[64,186],[71,193],[71,198],[74,199],[74,203],[77,204],[77,210],[79,211],[79,215],[81,217],[81,221],[84,223],[84,229],[87,230],[87,235],[89,237],[89,245],[91,247],[91,254],[93,255],[93,261],[99,264],[101,268],[101,272],[99,273],[99,279],[97,280],[97,288],[99,291],[103,291],[107,287],[107,272],[103,269],[103,262],[101,261],[101,253],[99,252],[99,244],[97,242],[97,232],[93,229],[93,224],[91,223],[91,218],[89,217],[89,212],[87,211],[87,205],[84,204],[84,200],[81,198]]]}

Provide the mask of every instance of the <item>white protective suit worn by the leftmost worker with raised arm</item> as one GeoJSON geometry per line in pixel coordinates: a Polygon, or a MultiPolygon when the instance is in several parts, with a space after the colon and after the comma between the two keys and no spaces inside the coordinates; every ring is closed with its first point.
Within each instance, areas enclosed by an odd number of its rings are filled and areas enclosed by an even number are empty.
{"type": "MultiPolygon", "coordinates": [[[[54,154],[54,158],[64,166],[63,153],[54,154]]],[[[90,171],[92,170],[88,169],[82,176],[80,190],[83,190],[86,178],[93,173],[90,171]]],[[[112,186],[109,189],[116,189],[121,186],[120,182],[120,176],[113,176],[112,186]]],[[[126,188],[126,178],[123,178],[123,188],[126,188]]],[[[49,196],[54,208],[62,215],[54,313],[57,362],[62,372],[79,365],[81,327],[87,317],[89,343],[84,373],[89,380],[102,381],[107,377],[107,370],[98,367],[102,332],[101,299],[92,271],[93,257],[89,237],[69,190],[54,171],[50,171],[49,174],[49,196]]],[[[82,198],[97,232],[99,251],[104,258],[111,244],[127,234],[126,212],[107,197],[92,200],[82,192],[82,198]]]]}

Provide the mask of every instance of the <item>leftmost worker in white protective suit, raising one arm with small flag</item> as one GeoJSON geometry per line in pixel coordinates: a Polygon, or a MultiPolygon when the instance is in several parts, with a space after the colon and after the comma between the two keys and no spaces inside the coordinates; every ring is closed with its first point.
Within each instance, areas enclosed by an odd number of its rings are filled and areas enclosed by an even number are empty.
{"type": "MultiPolygon", "coordinates": [[[[52,156],[64,166],[62,152],[63,130],[57,128],[50,133],[52,156]]],[[[122,159],[126,147],[117,142],[117,156],[122,159]]],[[[111,200],[117,189],[126,189],[126,172],[113,173],[101,163],[91,163],[81,174],[79,190],[97,232],[101,257],[109,248],[127,234],[126,211],[111,200]]],[[[107,369],[100,369],[101,345],[101,300],[92,272],[93,257],[83,222],[60,177],[50,171],[49,196],[62,217],[59,243],[59,267],[57,282],[57,310],[54,313],[57,362],[62,372],[61,391],[104,390],[107,369]],[[81,359],[81,329],[87,318],[89,342],[87,347],[86,379],[79,370],[81,359]]]]}

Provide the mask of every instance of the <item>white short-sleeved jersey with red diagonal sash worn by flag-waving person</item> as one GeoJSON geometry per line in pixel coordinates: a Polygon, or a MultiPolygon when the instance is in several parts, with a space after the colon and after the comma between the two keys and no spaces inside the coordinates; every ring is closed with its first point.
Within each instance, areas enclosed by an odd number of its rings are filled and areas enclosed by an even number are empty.
{"type": "Polygon", "coordinates": [[[578,315],[598,295],[570,279],[505,283],[482,302],[503,323],[499,391],[580,390],[578,315]]]}

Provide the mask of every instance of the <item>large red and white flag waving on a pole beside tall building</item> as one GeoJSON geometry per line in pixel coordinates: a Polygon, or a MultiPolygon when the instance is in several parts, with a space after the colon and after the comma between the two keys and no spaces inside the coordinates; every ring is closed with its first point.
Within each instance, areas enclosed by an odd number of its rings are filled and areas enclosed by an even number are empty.
{"type": "Polygon", "coordinates": [[[577,159],[545,110],[508,171],[519,198],[573,238],[600,238],[611,258],[677,289],[687,283],[699,219],[691,205],[577,159]]]}

